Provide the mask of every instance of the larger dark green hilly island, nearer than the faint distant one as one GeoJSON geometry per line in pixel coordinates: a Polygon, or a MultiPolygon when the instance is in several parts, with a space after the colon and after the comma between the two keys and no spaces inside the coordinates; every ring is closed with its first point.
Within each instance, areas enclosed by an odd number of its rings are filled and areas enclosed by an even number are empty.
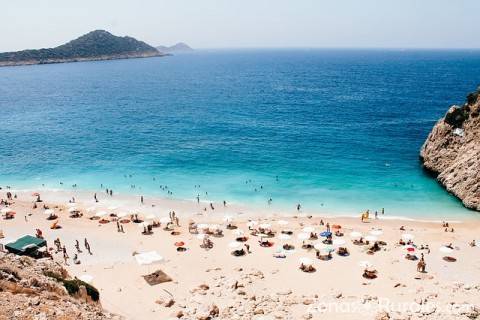
{"type": "Polygon", "coordinates": [[[165,56],[132,37],[118,37],[105,30],[89,32],[55,48],[0,53],[0,66],[65,63],[165,56]]]}

